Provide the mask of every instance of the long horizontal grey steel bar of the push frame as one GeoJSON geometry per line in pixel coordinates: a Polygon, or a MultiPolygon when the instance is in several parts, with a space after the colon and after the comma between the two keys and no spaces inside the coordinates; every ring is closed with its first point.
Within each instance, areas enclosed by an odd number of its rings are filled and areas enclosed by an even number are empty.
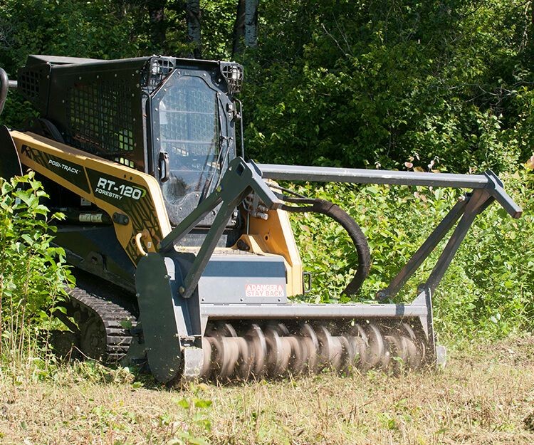
{"type": "Polygon", "coordinates": [[[308,167],[304,165],[258,164],[263,178],[286,181],[353,182],[355,184],[423,185],[483,189],[485,174],[397,172],[394,170],[308,167]]]}

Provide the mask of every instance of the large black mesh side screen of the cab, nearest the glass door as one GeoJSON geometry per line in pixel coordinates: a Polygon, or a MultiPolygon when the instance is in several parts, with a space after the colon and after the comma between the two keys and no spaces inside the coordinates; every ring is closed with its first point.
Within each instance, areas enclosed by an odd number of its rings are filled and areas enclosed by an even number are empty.
{"type": "Polygon", "coordinates": [[[124,80],[68,88],[68,143],[100,155],[132,152],[135,122],[131,104],[129,85],[124,80]]]}

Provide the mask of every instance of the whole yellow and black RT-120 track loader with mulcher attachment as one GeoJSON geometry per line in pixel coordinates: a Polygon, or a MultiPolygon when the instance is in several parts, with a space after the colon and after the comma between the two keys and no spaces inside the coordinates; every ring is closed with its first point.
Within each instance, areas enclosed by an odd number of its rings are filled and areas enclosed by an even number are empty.
{"type": "Polygon", "coordinates": [[[3,70],[0,78],[1,105],[8,86],[18,88],[39,116],[20,131],[1,128],[0,176],[33,169],[48,206],[66,214],[56,243],[77,287],[56,315],[69,344],[108,362],[147,362],[160,382],[436,364],[444,350],[434,341],[431,295],[475,216],[494,200],[521,214],[492,172],[245,161],[237,63],[30,56],[17,81],[3,70]],[[313,305],[288,299],[310,283],[288,212],[319,212],[347,231],[359,260],[348,295],[369,272],[367,241],[338,206],[276,179],[471,191],[377,295],[392,298],[455,226],[412,303],[313,305]]]}

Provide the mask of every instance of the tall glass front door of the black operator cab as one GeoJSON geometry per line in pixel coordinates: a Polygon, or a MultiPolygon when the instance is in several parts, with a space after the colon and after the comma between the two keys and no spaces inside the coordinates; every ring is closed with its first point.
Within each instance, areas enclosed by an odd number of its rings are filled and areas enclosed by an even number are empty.
{"type": "Polygon", "coordinates": [[[213,68],[174,68],[150,97],[153,162],[173,225],[213,192],[236,157],[234,104],[213,68]]]}

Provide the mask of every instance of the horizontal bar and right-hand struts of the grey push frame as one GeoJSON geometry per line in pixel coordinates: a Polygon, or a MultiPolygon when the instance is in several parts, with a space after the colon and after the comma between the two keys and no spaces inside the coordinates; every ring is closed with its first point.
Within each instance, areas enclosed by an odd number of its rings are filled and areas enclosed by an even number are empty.
{"type": "Polygon", "coordinates": [[[450,174],[426,172],[397,172],[392,170],[342,169],[336,167],[305,167],[294,165],[258,164],[262,177],[288,181],[350,182],[355,184],[394,184],[432,187],[471,188],[436,226],[422,246],[417,249],[389,286],[377,293],[378,300],[396,295],[404,283],[417,271],[439,242],[444,239],[456,221],[456,228],[447,242],[426,283],[418,293],[433,294],[454,258],[456,251],[473,224],[476,215],[497,201],[513,218],[523,210],[503,189],[503,182],[491,170],[483,174],[450,174]]]}

